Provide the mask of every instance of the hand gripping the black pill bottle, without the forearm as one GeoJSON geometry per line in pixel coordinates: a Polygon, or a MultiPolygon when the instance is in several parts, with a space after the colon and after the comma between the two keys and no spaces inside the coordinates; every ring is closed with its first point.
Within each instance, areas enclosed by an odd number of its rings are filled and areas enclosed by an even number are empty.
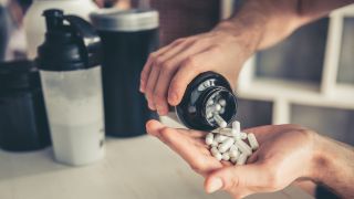
{"type": "Polygon", "coordinates": [[[198,74],[214,71],[236,82],[241,65],[250,55],[244,38],[235,28],[220,24],[215,30],[176,40],[152,53],[142,71],[140,92],[150,109],[166,115],[168,104],[180,103],[187,85],[198,74]]]}

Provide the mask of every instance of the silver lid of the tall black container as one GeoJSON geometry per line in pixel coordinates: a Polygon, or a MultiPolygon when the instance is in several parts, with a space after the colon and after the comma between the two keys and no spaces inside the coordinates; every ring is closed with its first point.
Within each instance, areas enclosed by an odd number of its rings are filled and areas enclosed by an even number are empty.
{"type": "Polygon", "coordinates": [[[97,30],[137,32],[158,28],[158,12],[154,9],[102,9],[90,14],[97,30]]]}

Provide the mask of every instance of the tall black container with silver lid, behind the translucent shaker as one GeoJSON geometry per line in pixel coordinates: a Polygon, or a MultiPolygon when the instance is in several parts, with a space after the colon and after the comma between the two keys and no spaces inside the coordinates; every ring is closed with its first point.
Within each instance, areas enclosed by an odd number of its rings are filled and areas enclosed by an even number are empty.
{"type": "Polygon", "coordinates": [[[108,10],[91,14],[103,43],[103,91],[106,134],[144,135],[145,123],[158,118],[139,93],[140,71],[158,45],[155,10],[108,10]]]}

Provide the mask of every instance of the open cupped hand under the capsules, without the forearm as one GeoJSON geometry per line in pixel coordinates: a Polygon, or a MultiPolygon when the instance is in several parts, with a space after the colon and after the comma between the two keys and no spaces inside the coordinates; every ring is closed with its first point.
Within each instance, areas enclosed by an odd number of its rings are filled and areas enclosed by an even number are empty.
{"type": "Polygon", "coordinates": [[[272,192],[314,172],[314,135],[296,125],[262,126],[246,129],[256,135],[260,147],[244,166],[217,161],[204,144],[204,132],[174,129],[150,121],[150,135],[158,137],[205,177],[207,192],[226,190],[233,198],[272,192]]]}

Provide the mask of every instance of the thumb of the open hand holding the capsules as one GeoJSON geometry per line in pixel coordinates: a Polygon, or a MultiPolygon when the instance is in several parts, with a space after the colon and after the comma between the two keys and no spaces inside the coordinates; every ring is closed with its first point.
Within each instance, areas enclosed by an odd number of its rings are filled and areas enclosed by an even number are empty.
{"type": "Polygon", "coordinates": [[[206,178],[205,189],[208,193],[226,190],[237,192],[239,197],[243,197],[249,195],[248,189],[258,184],[261,175],[260,167],[254,164],[226,167],[216,170],[206,178]]]}

